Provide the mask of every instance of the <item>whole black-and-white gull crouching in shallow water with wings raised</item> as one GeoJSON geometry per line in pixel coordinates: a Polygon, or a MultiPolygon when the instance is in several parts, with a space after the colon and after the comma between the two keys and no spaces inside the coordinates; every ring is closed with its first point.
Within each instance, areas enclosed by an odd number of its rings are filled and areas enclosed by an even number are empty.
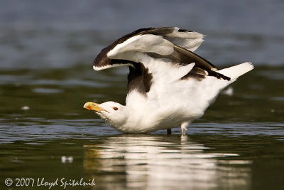
{"type": "Polygon", "coordinates": [[[251,63],[217,68],[193,53],[203,35],[177,27],[141,28],[114,41],[95,58],[94,70],[129,66],[126,105],[84,107],[125,133],[147,133],[181,126],[202,117],[217,95],[253,69],[251,63]]]}

